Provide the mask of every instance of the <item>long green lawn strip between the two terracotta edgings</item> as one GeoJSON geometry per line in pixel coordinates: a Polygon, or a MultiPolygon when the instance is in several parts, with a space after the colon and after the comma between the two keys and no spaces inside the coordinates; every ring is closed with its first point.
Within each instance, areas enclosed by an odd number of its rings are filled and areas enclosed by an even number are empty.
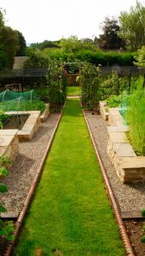
{"type": "Polygon", "coordinates": [[[47,256],[125,255],[78,99],[67,101],[13,255],[37,248],[47,256]]]}

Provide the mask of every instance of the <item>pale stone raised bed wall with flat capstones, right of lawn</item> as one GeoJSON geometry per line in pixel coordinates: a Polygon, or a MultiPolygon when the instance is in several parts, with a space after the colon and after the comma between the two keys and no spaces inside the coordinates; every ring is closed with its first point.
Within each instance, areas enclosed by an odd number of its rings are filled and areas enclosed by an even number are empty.
{"type": "MultiPolygon", "coordinates": [[[[102,113],[102,112],[101,112],[102,113]]],[[[145,157],[136,156],[125,132],[129,127],[119,113],[119,108],[110,108],[108,112],[107,154],[123,183],[145,182],[145,157]]]]}

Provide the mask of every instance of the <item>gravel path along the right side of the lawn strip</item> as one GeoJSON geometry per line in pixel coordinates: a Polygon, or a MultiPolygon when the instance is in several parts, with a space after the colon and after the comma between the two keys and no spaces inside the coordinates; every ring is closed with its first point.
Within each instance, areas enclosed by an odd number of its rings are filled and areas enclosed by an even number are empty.
{"type": "Polygon", "coordinates": [[[138,211],[145,208],[145,183],[121,183],[107,155],[107,121],[103,120],[101,115],[94,115],[91,112],[85,112],[85,115],[121,211],[138,211]]]}

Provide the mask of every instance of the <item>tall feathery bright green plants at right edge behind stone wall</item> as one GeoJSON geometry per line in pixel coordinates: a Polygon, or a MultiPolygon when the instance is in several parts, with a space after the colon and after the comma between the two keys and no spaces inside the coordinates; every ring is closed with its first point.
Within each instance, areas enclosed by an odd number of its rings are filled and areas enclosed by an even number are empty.
{"type": "MultiPolygon", "coordinates": [[[[141,79],[142,82],[142,79],[141,79]]],[[[137,89],[132,90],[129,99],[126,119],[131,129],[129,137],[136,154],[145,155],[145,88],[138,84],[137,89]]]]}

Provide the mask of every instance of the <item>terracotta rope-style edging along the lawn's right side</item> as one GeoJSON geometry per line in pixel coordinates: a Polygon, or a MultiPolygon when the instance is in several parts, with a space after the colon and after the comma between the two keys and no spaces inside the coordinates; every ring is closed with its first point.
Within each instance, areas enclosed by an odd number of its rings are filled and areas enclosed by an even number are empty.
{"type": "MultiPolygon", "coordinates": [[[[84,113],[84,109],[83,109],[83,113],[84,113]]],[[[120,212],[119,212],[119,207],[118,207],[118,205],[115,201],[113,191],[112,191],[110,183],[108,181],[107,174],[106,174],[107,172],[106,172],[105,167],[102,163],[101,155],[99,154],[99,151],[96,148],[96,143],[95,143],[94,137],[92,135],[92,132],[90,131],[90,125],[88,123],[88,120],[86,119],[85,113],[84,113],[84,119],[85,119],[86,125],[88,127],[88,130],[90,132],[91,141],[92,141],[93,146],[94,146],[95,151],[96,151],[96,158],[99,161],[99,165],[101,167],[102,177],[103,177],[103,180],[104,180],[106,188],[107,188],[107,195],[108,195],[109,200],[111,202],[111,205],[113,207],[114,216],[115,216],[116,221],[119,225],[119,232],[120,232],[120,236],[122,238],[122,241],[124,243],[126,253],[127,253],[128,256],[135,256],[135,253],[133,253],[133,250],[132,250],[132,247],[131,247],[131,242],[130,242],[129,237],[128,237],[128,235],[126,233],[126,230],[125,230],[124,222],[123,222],[123,220],[121,218],[121,215],[120,215],[120,212]]]]}

